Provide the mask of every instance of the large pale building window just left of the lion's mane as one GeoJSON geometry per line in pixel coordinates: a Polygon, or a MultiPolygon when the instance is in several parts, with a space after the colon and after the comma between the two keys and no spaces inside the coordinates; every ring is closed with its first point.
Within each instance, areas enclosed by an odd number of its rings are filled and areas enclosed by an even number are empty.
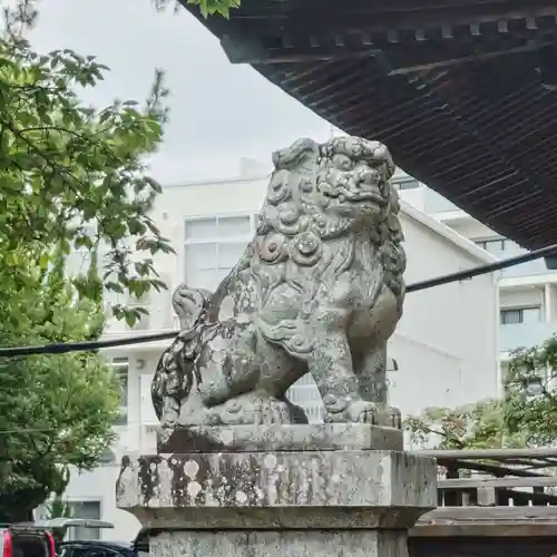
{"type": "Polygon", "coordinates": [[[186,219],[186,284],[215,291],[244,254],[254,227],[253,215],[186,219]]]}

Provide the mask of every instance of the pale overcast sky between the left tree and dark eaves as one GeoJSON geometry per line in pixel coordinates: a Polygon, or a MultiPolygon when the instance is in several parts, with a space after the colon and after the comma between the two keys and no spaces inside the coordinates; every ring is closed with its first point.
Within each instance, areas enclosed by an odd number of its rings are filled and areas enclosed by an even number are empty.
{"type": "Polygon", "coordinates": [[[42,0],[32,33],[39,51],[71,48],[110,67],[87,101],[143,100],[155,68],[166,71],[170,121],[153,160],[164,184],[237,175],[241,157],[270,165],[299,137],[325,139],[328,123],[248,66],[233,66],[185,10],[158,13],[152,0],[42,0]]]}

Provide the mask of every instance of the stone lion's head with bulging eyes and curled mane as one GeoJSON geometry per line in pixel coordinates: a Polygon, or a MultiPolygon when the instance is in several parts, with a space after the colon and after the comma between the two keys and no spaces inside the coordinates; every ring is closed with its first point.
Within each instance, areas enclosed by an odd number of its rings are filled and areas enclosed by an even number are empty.
{"type": "Polygon", "coordinates": [[[368,234],[374,247],[402,240],[394,164],[387,147],[360,137],[299,139],[273,154],[257,247],[266,263],[312,265],[323,241],[368,234]],[[303,254],[305,253],[305,257],[303,254]]]}

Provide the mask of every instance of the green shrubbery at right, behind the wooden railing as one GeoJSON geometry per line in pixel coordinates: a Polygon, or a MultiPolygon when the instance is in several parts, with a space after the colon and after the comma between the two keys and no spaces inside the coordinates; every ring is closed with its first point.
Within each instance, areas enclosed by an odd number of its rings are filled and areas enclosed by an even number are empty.
{"type": "Polygon", "coordinates": [[[405,420],[419,446],[438,449],[539,448],[557,442],[557,335],[511,353],[504,395],[459,408],[428,408],[405,420]]]}

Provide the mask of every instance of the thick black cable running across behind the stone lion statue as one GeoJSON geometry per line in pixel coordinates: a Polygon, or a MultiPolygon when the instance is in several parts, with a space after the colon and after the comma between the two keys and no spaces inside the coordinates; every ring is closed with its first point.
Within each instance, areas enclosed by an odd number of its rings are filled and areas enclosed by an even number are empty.
{"type": "MultiPolygon", "coordinates": [[[[520,265],[521,263],[539,260],[540,257],[547,257],[554,254],[557,254],[557,244],[551,244],[550,246],[541,247],[540,250],[535,250],[534,252],[525,253],[522,255],[517,255],[515,257],[509,257],[502,261],[497,261],[495,263],[478,265],[476,267],[468,268],[465,271],[458,271],[457,273],[436,276],[434,278],[427,278],[424,281],[420,281],[408,285],[407,292],[419,292],[421,290],[433,289],[436,286],[441,286],[443,284],[449,284],[451,282],[466,281],[468,278],[473,278],[475,276],[479,276],[487,273],[494,273],[496,271],[501,271],[504,268],[508,268],[515,265],[520,265]]],[[[144,344],[146,342],[175,339],[176,334],[177,334],[176,331],[168,331],[164,333],[127,336],[124,339],[107,339],[100,341],[84,341],[84,342],[68,342],[68,343],[60,342],[60,343],[45,344],[42,346],[1,348],[0,358],[13,358],[13,356],[36,355],[36,354],[66,354],[68,352],[89,352],[110,346],[126,346],[128,344],[144,344]]]]}

